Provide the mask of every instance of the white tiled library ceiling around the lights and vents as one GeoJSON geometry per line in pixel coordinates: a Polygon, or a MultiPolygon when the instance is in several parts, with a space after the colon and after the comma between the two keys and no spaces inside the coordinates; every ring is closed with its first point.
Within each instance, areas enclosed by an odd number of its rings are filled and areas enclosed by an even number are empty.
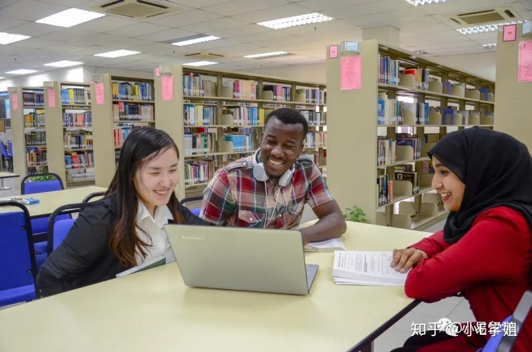
{"type": "MultiPolygon", "coordinates": [[[[445,14],[510,6],[522,19],[532,19],[532,0],[454,0],[414,7],[404,0],[152,0],[180,7],[180,11],[148,21],[106,15],[71,28],[35,23],[68,9],[93,10],[102,0],[0,0],[0,31],[31,36],[0,45],[0,76],[6,71],[49,71],[45,63],[60,60],[90,65],[151,71],[158,63],[187,63],[185,54],[208,51],[225,55],[217,66],[253,70],[322,63],[325,47],[342,40],[361,40],[362,29],[393,26],[401,30],[400,46],[429,54],[482,53],[481,44],[495,43],[496,32],[463,36],[445,14]],[[272,30],[256,22],[319,11],[335,20],[272,30]],[[161,43],[204,33],[220,40],[179,47],[161,43]],[[142,54],[104,58],[94,54],[130,49],[142,54]],[[263,60],[244,55],[287,51],[294,55],[263,60]]],[[[492,49],[493,50],[493,49],[492,49]]],[[[52,68],[53,69],[53,68],[52,68]]]]}

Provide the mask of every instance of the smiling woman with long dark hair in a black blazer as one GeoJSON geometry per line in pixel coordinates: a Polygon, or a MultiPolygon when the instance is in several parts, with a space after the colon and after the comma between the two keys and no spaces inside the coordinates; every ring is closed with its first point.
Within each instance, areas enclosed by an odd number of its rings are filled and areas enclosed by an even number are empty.
{"type": "Polygon", "coordinates": [[[176,198],[178,162],[179,150],[167,133],[153,128],[132,131],[105,197],[80,213],[41,266],[39,295],[109,280],[158,256],[174,261],[163,225],[207,224],[176,198]]]}

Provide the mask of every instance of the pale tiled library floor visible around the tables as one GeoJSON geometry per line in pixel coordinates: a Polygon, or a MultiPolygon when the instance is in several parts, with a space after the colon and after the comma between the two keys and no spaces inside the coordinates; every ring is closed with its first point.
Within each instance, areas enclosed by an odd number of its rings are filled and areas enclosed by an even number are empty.
{"type": "MultiPolygon", "coordinates": [[[[12,187],[12,189],[0,191],[0,197],[20,195],[19,191],[13,189],[13,180],[6,179],[4,183],[5,186],[12,187]]],[[[191,205],[195,206],[194,204],[191,205]]],[[[302,222],[314,219],[316,217],[312,209],[309,206],[305,206],[302,222]]],[[[439,222],[425,231],[434,233],[442,230],[444,223],[445,221],[439,222]]],[[[421,303],[375,340],[374,351],[388,352],[396,347],[402,346],[403,342],[412,336],[412,323],[428,324],[437,322],[443,317],[447,317],[452,322],[467,322],[475,319],[471,313],[471,309],[469,309],[468,302],[460,297],[450,297],[431,304],[421,303]]]]}

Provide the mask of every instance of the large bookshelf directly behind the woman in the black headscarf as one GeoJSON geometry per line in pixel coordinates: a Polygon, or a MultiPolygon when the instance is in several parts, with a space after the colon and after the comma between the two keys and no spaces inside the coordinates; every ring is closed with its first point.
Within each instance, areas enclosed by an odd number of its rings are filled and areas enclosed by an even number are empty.
{"type": "Polygon", "coordinates": [[[495,82],[377,40],[338,48],[336,58],[327,48],[327,183],[340,208],[406,229],[445,219],[427,151],[450,131],[493,128],[495,82]],[[342,62],[356,56],[361,86],[341,89],[342,62]]]}

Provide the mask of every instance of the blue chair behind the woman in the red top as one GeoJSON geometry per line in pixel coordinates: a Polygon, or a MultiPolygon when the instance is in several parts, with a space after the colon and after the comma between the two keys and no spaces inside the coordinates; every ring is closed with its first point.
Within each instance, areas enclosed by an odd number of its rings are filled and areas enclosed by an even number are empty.
{"type": "Polygon", "coordinates": [[[510,352],[513,345],[516,343],[519,332],[523,326],[523,323],[527,319],[530,308],[532,307],[532,291],[525,291],[525,294],[521,297],[516,310],[513,314],[506,318],[503,322],[516,324],[516,336],[506,335],[504,336],[503,328],[498,330],[495,336],[489,338],[484,348],[478,349],[477,352],[510,352]]]}

